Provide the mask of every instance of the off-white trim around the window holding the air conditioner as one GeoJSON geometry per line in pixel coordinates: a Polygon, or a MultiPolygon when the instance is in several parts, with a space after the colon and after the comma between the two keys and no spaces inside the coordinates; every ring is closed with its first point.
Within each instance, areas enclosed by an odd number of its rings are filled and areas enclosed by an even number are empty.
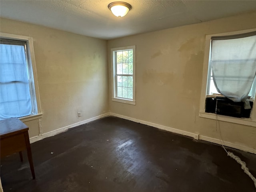
{"type": "Polygon", "coordinates": [[[250,118],[235,118],[235,117],[223,116],[223,115],[217,115],[217,114],[211,114],[211,113],[205,112],[205,99],[206,99],[206,92],[207,92],[207,85],[208,85],[210,40],[212,36],[228,36],[228,35],[252,32],[255,30],[256,28],[249,29],[249,30],[235,31],[235,32],[206,35],[205,49],[204,49],[204,65],[203,65],[203,75],[202,75],[202,88],[201,88],[200,107],[199,107],[200,117],[256,127],[256,106],[255,106],[256,103],[254,103],[254,106],[252,107],[250,118]]]}

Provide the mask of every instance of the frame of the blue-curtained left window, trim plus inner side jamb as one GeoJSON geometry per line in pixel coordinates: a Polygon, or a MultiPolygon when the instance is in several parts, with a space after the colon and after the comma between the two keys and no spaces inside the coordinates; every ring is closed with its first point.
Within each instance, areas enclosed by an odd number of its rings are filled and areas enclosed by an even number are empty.
{"type": "Polygon", "coordinates": [[[31,103],[32,109],[34,108],[35,114],[30,114],[28,116],[19,117],[20,120],[28,121],[34,120],[37,118],[42,118],[41,104],[40,104],[40,96],[38,89],[38,80],[37,80],[37,72],[36,72],[36,60],[34,56],[34,46],[33,46],[33,38],[28,36],[21,36],[16,34],[8,34],[8,33],[0,33],[1,38],[11,39],[11,40],[22,40],[26,41],[26,60],[28,65],[28,75],[29,75],[29,89],[31,95],[31,103]]]}

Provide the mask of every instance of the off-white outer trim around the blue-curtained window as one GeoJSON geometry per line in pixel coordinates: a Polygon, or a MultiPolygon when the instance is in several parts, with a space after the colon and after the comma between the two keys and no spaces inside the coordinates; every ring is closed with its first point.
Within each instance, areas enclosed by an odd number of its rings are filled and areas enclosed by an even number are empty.
{"type": "Polygon", "coordinates": [[[39,88],[38,88],[38,80],[37,80],[37,72],[36,72],[36,59],[34,55],[34,46],[33,46],[33,38],[28,36],[22,36],[22,35],[15,35],[15,34],[8,34],[8,33],[0,33],[1,38],[8,38],[8,39],[14,39],[14,40],[25,40],[28,42],[28,53],[30,57],[30,62],[32,67],[32,76],[33,82],[34,82],[34,93],[36,97],[36,107],[37,107],[37,114],[31,114],[28,116],[20,117],[19,119],[22,121],[28,121],[33,119],[42,118],[42,110],[41,110],[41,102],[40,102],[40,96],[39,96],[39,88]]]}

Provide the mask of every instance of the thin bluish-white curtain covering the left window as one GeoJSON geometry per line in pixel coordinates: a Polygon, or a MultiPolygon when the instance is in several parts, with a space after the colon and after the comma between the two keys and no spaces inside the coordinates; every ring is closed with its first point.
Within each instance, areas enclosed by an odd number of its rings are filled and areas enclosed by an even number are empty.
{"type": "Polygon", "coordinates": [[[0,120],[31,114],[24,46],[0,44],[0,120]]]}

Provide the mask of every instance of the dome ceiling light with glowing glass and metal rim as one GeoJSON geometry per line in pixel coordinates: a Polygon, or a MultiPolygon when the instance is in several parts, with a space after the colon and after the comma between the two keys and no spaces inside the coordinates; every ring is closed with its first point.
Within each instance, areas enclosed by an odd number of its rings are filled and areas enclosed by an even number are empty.
{"type": "Polygon", "coordinates": [[[132,6],[126,2],[118,1],[108,4],[108,8],[115,16],[123,17],[131,10],[132,6]]]}

